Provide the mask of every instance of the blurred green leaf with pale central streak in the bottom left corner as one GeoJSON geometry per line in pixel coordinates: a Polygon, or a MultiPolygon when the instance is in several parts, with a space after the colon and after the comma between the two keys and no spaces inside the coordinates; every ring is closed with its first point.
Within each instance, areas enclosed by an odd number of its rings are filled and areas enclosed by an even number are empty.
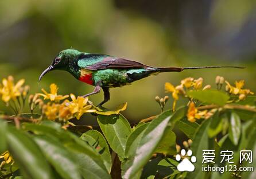
{"type": "Polygon", "coordinates": [[[52,178],[48,162],[29,135],[12,127],[9,127],[6,135],[9,151],[24,178],[52,178]]]}

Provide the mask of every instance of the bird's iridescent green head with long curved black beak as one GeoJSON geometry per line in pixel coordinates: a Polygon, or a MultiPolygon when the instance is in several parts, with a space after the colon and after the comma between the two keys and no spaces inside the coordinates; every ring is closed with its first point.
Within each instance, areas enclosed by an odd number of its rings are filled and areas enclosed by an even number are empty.
{"type": "Polygon", "coordinates": [[[52,64],[41,73],[39,81],[46,73],[52,71],[53,69],[67,69],[69,61],[75,59],[77,55],[80,54],[81,52],[75,49],[62,50],[52,61],[52,64]]]}

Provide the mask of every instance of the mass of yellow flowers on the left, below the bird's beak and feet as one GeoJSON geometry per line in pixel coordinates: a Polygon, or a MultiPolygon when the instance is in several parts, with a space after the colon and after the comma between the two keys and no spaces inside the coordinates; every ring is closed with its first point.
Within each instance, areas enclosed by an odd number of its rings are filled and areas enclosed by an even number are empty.
{"type": "MultiPolygon", "coordinates": [[[[29,86],[24,85],[25,80],[21,79],[14,83],[13,76],[8,76],[2,80],[0,84],[0,99],[6,106],[13,109],[15,116],[22,115],[26,98],[28,96],[29,86]]],[[[42,93],[30,95],[28,98],[29,110],[31,112],[30,121],[40,122],[42,119],[56,120],[61,123],[67,122],[69,119],[80,119],[85,113],[96,113],[100,115],[119,114],[120,111],[126,110],[127,103],[122,104],[115,111],[95,107],[88,98],[82,96],[60,95],[56,84],[51,84],[49,92],[41,89],[42,93]],[[42,98],[41,98],[42,97],[42,98]],[[48,100],[48,102],[47,102],[48,100]],[[39,108],[41,115],[37,119],[33,119],[34,110],[39,108]]],[[[17,123],[18,125],[18,123],[17,123]]]]}

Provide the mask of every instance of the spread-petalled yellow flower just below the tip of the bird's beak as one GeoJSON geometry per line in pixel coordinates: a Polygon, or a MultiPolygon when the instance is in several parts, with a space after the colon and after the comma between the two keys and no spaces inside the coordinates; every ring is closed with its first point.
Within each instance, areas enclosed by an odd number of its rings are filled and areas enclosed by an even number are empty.
{"type": "Polygon", "coordinates": [[[40,96],[43,96],[44,99],[50,99],[51,101],[55,101],[55,102],[60,102],[60,100],[66,99],[68,98],[68,95],[57,95],[57,91],[58,91],[58,87],[56,84],[52,83],[50,85],[50,93],[46,92],[43,88],[42,88],[42,92],[44,92],[44,94],[38,94],[40,96]]]}

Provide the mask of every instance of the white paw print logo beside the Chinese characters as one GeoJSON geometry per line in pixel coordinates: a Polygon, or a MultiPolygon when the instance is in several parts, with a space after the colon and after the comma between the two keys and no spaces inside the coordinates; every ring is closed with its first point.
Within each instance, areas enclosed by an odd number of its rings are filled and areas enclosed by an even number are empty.
{"type": "Polygon", "coordinates": [[[187,152],[188,157],[186,156],[185,149],[182,149],[180,154],[176,155],[176,161],[179,162],[181,160],[180,164],[177,166],[177,169],[180,172],[184,172],[184,171],[193,172],[195,170],[195,165],[193,165],[192,162],[193,163],[196,162],[196,157],[192,156],[192,150],[188,150],[187,152]],[[188,158],[190,158],[190,160],[188,158]]]}

